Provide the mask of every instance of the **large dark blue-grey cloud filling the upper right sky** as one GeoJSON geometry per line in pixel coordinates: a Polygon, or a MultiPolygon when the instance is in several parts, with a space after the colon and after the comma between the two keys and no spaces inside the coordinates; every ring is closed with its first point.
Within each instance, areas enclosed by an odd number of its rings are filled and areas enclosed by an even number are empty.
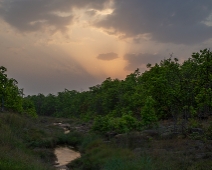
{"type": "Polygon", "coordinates": [[[159,42],[195,44],[212,38],[212,27],[204,24],[211,12],[211,0],[115,0],[114,12],[96,26],[124,37],[149,34],[159,42]]]}

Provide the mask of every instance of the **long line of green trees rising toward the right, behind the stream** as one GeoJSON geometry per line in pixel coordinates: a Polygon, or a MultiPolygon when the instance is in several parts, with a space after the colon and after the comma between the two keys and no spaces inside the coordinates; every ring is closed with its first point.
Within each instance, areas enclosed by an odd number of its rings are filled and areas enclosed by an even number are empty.
{"type": "Polygon", "coordinates": [[[39,115],[95,118],[97,128],[103,127],[98,122],[106,122],[105,130],[120,129],[114,126],[131,130],[159,119],[187,120],[211,114],[210,50],[193,53],[183,63],[170,56],[155,65],[147,64],[147,68],[142,74],[135,70],[125,80],[107,78],[88,91],[65,89],[57,95],[38,94],[27,99],[33,101],[39,115]]]}

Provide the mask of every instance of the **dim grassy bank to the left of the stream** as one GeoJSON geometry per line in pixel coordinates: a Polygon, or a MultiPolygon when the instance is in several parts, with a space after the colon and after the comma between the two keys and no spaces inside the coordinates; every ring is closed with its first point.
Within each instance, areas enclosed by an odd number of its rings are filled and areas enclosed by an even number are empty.
{"type": "Polygon", "coordinates": [[[67,142],[56,120],[0,113],[0,169],[54,169],[53,148],[67,142]]]}

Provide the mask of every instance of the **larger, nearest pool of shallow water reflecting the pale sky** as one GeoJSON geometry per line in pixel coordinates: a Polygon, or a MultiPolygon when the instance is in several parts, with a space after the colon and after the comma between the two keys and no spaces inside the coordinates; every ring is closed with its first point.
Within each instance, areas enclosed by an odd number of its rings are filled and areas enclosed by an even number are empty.
{"type": "Polygon", "coordinates": [[[80,158],[80,153],[76,152],[68,147],[58,147],[55,149],[54,154],[58,161],[56,161],[56,167],[67,165],[71,161],[80,158]]]}

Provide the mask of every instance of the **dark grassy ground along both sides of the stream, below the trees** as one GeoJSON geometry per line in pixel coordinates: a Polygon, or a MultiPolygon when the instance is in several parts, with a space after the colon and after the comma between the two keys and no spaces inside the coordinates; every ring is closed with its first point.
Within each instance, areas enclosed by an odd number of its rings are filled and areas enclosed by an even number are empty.
{"type": "MultiPolygon", "coordinates": [[[[0,113],[0,169],[54,169],[53,148],[58,145],[74,146],[82,153],[81,158],[68,165],[73,170],[212,169],[210,159],[192,160],[186,153],[186,143],[189,142],[189,148],[192,148],[195,140],[143,140],[137,133],[130,133],[105,142],[102,136],[92,133],[72,131],[64,134],[53,125],[57,121],[60,120],[0,113]],[[141,152],[133,152],[135,148],[140,148],[141,152]],[[170,152],[165,151],[169,149],[170,152]]],[[[76,122],[70,123],[75,126],[76,122]]],[[[211,135],[211,130],[208,133],[211,135]]]]}

